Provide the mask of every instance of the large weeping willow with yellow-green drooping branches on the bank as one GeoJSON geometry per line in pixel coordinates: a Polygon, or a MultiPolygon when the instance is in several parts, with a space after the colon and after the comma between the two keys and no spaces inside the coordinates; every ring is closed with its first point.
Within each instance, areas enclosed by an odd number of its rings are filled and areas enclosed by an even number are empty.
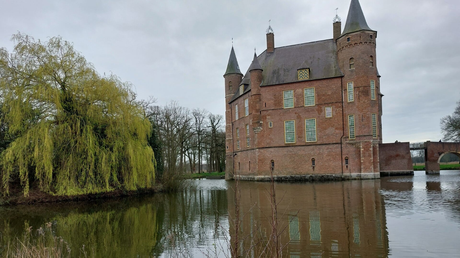
{"type": "Polygon", "coordinates": [[[71,43],[13,35],[0,49],[0,97],[14,141],[0,155],[3,192],[54,195],[149,188],[150,122],[132,85],[99,75],[71,43]]]}

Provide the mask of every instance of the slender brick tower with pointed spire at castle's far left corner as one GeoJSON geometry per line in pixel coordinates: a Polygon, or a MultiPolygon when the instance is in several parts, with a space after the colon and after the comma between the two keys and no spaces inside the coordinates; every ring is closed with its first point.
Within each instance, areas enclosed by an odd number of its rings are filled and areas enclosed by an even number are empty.
{"type": "Polygon", "coordinates": [[[235,111],[231,110],[229,102],[235,95],[238,86],[241,83],[243,74],[236,60],[233,46],[230,51],[230,58],[227,64],[227,70],[224,73],[225,79],[225,179],[233,178],[233,131],[232,122],[235,111]]]}

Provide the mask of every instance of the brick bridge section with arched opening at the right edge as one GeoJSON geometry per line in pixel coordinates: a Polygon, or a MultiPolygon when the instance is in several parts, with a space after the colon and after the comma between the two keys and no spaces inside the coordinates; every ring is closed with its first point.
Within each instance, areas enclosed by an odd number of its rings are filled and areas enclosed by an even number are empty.
{"type": "Polygon", "coordinates": [[[425,173],[439,174],[439,160],[446,153],[454,153],[460,157],[459,142],[425,142],[425,173]]]}

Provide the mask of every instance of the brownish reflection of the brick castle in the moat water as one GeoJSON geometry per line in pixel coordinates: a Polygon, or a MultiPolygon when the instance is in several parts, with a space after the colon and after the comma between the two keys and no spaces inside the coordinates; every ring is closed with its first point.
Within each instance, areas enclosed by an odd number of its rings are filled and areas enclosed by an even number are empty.
{"type": "MultiPolygon", "coordinates": [[[[259,224],[262,232],[271,232],[271,205],[267,197],[270,183],[240,181],[240,186],[240,214],[245,215],[239,236],[248,236],[240,246],[244,253],[258,241],[257,234],[250,232],[259,224]]],[[[405,184],[398,186],[411,188],[405,184]]],[[[277,206],[282,217],[278,226],[282,230],[280,240],[282,245],[287,244],[282,257],[388,257],[385,204],[379,189],[380,180],[276,184],[277,201],[284,195],[277,206]]],[[[232,188],[227,196],[229,213],[234,214],[232,188]]],[[[230,235],[234,233],[230,226],[230,235]]],[[[232,238],[231,242],[234,241],[232,238]]],[[[260,255],[257,249],[247,254],[260,255]]]]}

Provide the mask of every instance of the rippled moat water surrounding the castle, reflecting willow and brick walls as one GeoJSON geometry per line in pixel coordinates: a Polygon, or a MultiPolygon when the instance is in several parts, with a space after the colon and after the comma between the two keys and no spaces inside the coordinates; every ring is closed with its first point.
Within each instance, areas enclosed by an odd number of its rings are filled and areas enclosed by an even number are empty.
{"type": "MultiPolygon", "coordinates": [[[[264,214],[269,182],[241,181],[242,234],[264,214]],[[250,209],[257,202],[258,207],[250,209]]],[[[205,257],[226,247],[235,182],[197,180],[198,189],[118,200],[0,208],[0,251],[32,227],[70,243],[73,257],[205,257]],[[51,224],[47,224],[51,222],[51,224]]],[[[277,183],[283,257],[454,257],[460,253],[460,170],[334,182],[277,183]]],[[[230,241],[232,241],[230,239],[230,241]]],[[[250,245],[251,237],[243,245],[250,245]]],[[[224,248],[225,249],[225,248],[224,248]]],[[[224,257],[226,250],[220,252],[224,257]]],[[[248,252],[257,257],[257,251],[248,252]]]]}

